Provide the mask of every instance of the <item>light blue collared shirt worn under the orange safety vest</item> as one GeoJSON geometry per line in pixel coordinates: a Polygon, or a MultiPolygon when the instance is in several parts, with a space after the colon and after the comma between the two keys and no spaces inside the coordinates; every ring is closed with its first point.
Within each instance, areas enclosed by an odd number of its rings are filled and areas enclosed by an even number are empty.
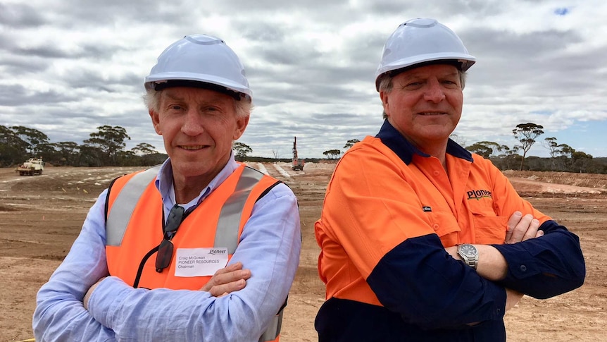
{"type": "MultiPolygon", "coordinates": [[[[237,169],[234,157],[187,209],[204,201],[237,169]]],[[[156,188],[165,217],[175,204],[170,159],[156,188]]],[[[258,341],[291,288],[299,265],[299,209],[280,183],[256,202],[230,260],[251,270],[246,287],[215,298],[204,291],[132,288],[115,276],[99,283],[85,310],[82,298],[108,275],[104,190],[89,210],[65,260],[40,288],[34,312],[36,341],[258,341]]]]}

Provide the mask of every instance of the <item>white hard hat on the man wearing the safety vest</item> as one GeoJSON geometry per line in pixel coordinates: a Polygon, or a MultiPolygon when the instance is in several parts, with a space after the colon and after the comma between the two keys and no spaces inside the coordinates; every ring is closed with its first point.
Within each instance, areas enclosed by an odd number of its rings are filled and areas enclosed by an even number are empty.
{"type": "Polygon", "coordinates": [[[187,35],[167,47],[144,85],[146,89],[157,89],[172,80],[192,86],[203,83],[213,90],[226,88],[249,97],[252,94],[238,56],[222,39],[209,35],[187,35]]]}

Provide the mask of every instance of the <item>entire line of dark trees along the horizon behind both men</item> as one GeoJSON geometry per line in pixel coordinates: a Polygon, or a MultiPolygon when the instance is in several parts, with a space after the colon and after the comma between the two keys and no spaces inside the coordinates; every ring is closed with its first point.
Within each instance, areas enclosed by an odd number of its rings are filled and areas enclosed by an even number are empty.
{"type": "MultiPolygon", "coordinates": [[[[0,167],[15,166],[32,157],[42,157],[46,163],[56,166],[152,166],[167,158],[166,154],[158,153],[156,147],[146,142],[126,150],[125,141],[131,138],[123,127],[106,125],[96,129],[90,133],[89,139],[77,144],[49,142],[46,134],[34,128],[0,125],[0,167]]],[[[465,149],[491,159],[501,170],[607,173],[607,158],[594,159],[590,154],[558,143],[554,137],[542,141],[542,146],[549,150],[549,158],[527,157],[529,149],[544,134],[543,126],[520,123],[512,133],[520,144],[508,147],[497,142],[480,141],[465,146],[465,149]]],[[[451,138],[457,140],[456,135],[451,138]]],[[[348,140],[343,147],[344,152],[356,142],[359,140],[348,140]]],[[[247,155],[253,152],[242,142],[234,142],[233,149],[238,160],[249,159],[247,155]]],[[[323,154],[327,159],[338,159],[342,150],[327,149],[323,154]]]]}

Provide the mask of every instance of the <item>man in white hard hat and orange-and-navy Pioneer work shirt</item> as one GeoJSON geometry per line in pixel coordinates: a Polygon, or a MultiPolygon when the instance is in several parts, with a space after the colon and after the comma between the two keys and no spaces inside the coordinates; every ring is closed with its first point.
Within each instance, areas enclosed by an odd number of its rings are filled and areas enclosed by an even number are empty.
{"type": "Polygon", "coordinates": [[[523,294],[582,285],[579,239],[449,135],[475,57],[437,20],[388,38],[375,87],[384,124],[351,147],[315,224],[326,302],[319,341],[506,341],[523,294]]]}

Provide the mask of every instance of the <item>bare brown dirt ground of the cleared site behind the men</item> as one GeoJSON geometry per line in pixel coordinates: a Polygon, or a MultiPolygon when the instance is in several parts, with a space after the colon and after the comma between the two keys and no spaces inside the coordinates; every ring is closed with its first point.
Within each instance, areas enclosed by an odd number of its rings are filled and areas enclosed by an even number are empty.
{"type": "MultiPolygon", "coordinates": [[[[251,164],[287,183],[299,198],[303,248],[282,326],[283,342],[317,341],[324,301],[313,224],[334,164],[251,164]]],[[[47,167],[42,176],[0,169],[0,342],[32,337],[35,295],[65,257],[89,207],[112,178],[134,168],[47,167]]],[[[607,175],[506,171],[542,212],[580,236],[584,286],[549,300],[525,296],[506,314],[508,341],[605,341],[607,324],[607,175]]]]}

